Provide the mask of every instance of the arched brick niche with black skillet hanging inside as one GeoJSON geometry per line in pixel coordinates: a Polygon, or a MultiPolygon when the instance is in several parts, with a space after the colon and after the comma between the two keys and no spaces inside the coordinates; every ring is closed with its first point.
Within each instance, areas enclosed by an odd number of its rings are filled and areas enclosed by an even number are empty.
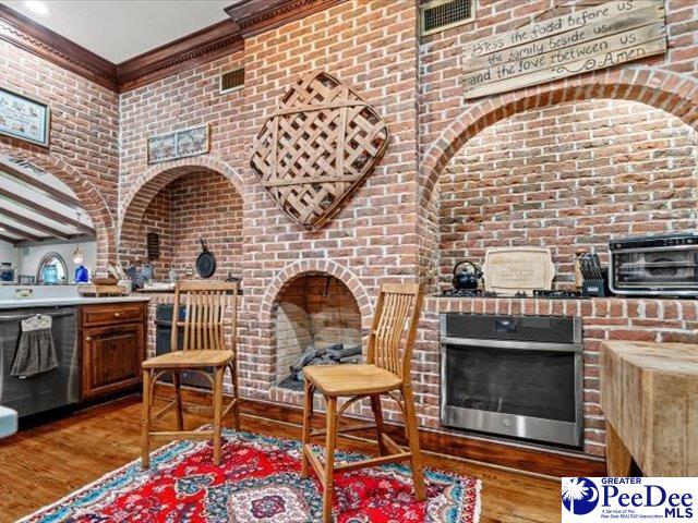
{"type": "Polygon", "coordinates": [[[160,243],[160,257],[151,260],[156,279],[167,279],[171,268],[180,277],[193,270],[201,253],[200,239],[216,255],[214,278],[242,276],[243,203],[234,183],[238,179],[229,170],[226,175],[208,167],[210,163],[180,162],[154,169],[144,178],[123,210],[122,264],[144,263],[146,234],[155,232],[160,243]]]}

